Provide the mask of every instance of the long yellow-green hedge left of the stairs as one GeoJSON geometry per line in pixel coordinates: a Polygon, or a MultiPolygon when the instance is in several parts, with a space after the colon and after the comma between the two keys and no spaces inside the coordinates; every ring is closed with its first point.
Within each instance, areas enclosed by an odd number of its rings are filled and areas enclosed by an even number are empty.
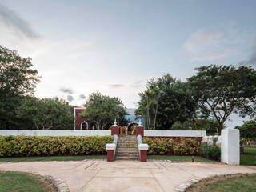
{"type": "Polygon", "coordinates": [[[0,157],[106,154],[112,136],[0,136],[0,157]]]}

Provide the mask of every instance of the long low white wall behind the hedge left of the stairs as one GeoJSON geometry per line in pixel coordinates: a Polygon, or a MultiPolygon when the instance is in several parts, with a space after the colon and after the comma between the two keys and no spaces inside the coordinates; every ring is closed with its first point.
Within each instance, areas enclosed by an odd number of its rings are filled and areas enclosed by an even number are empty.
{"type": "Polygon", "coordinates": [[[0,130],[0,135],[24,136],[106,136],[111,130],[0,130]]]}

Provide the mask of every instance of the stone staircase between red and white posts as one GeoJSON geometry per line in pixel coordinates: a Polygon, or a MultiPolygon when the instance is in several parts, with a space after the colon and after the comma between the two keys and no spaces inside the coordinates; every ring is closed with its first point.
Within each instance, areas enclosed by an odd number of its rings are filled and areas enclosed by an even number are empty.
{"type": "Polygon", "coordinates": [[[115,160],[138,160],[138,144],[135,135],[120,135],[115,160]]]}

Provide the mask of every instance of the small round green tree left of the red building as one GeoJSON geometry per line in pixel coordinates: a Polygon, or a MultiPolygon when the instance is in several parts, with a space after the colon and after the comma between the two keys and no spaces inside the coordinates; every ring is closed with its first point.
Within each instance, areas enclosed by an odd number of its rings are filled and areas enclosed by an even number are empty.
{"type": "Polygon", "coordinates": [[[16,113],[32,121],[38,130],[70,130],[74,126],[73,107],[58,98],[25,97],[16,113]]]}

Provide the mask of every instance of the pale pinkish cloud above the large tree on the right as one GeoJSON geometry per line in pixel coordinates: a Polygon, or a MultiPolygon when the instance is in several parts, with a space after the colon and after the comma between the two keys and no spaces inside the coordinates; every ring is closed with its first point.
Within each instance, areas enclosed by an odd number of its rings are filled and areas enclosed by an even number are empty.
{"type": "Polygon", "coordinates": [[[234,53],[230,48],[230,44],[238,42],[234,38],[238,37],[230,38],[226,31],[198,30],[186,40],[184,48],[190,53],[192,62],[213,61],[234,53]]]}

